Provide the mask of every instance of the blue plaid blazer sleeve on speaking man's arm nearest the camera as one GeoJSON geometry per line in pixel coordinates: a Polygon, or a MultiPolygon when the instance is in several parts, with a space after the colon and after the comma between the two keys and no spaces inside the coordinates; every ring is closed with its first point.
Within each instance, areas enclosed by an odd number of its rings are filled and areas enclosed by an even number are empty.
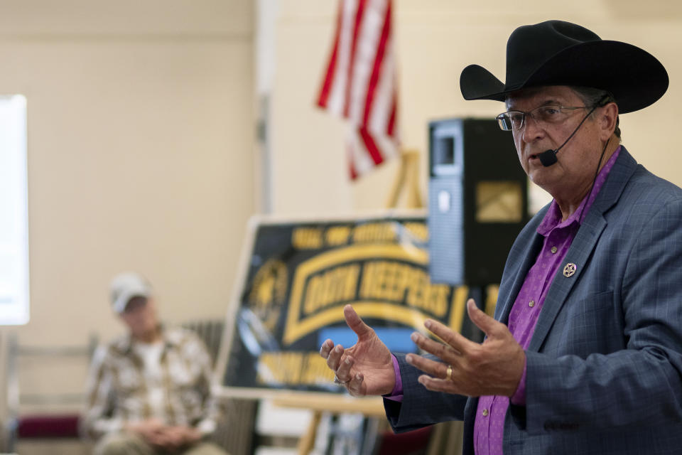
{"type": "MultiPolygon", "coordinates": [[[[610,257],[620,281],[602,298],[622,311],[622,327],[592,319],[593,331],[595,338],[620,337],[624,348],[585,358],[526,352],[526,407],[511,409],[519,427],[529,434],[580,427],[642,431],[682,422],[681,226],[677,198],[651,213],[632,243],[610,257]]],[[[590,311],[596,302],[565,304],[590,311]]]]}

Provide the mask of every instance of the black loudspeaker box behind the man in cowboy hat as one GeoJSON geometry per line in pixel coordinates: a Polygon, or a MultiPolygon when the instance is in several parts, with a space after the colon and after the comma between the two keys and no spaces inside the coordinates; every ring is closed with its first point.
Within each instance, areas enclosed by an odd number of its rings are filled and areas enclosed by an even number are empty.
{"type": "Polygon", "coordinates": [[[429,273],[452,285],[497,284],[528,221],[528,180],[511,133],[494,119],[430,122],[429,273]]]}

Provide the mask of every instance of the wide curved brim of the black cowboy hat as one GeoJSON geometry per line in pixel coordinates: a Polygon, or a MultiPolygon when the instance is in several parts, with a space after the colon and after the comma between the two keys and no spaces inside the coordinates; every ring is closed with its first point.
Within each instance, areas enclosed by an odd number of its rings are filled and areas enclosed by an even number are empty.
{"type": "Polygon", "coordinates": [[[668,73],[653,55],[620,41],[588,41],[560,50],[529,71],[521,82],[505,85],[485,68],[462,70],[460,90],[465,100],[504,101],[527,87],[572,85],[610,92],[619,112],[647,107],[668,89],[668,73]]]}

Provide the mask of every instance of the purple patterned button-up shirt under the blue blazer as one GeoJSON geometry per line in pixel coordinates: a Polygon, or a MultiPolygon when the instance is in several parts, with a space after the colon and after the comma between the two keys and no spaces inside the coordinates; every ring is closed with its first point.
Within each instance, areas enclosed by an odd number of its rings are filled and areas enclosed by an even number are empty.
{"type": "MultiPolygon", "coordinates": [[[[542,310],[547,291],[557,270],[563,268],[563,259],[571,242],[578,233],[580,223],[590,211],[592,203],[604,185],[609,171],[616,162],[620,147],[616,149],[609,161],[600,171],[595,186],[585,196],[575,212],[566,220],[561,220],[561,210],[556,201],[552,201],[545,218],[538,226],[538,234],[545,237],[542,250],[535,264],[526,275],[519,295],[509,313],[507,326],[514,339],[527,349],[535,331],[538,316],[542,310]],[[588,199],[589,197],[589,199],[588,199]],[[579,220],[578,217],[581,217],[579,220]]],[[[510,397],[484,396],[478,401],[476,420],[474,423],[474,449],[476,455],[502,455],[502,438],[504,437],[504,418],[507,416],[509,401],[514,405],[526,404],[526,365],[524,373],[514,395],[510,397]]]]}

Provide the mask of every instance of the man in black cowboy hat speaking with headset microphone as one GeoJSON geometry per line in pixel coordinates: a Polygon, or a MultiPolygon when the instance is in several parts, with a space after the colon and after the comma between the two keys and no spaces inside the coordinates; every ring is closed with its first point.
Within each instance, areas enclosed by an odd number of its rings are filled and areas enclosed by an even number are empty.
{"type": "Polygon", "coordinates": [[[517,28],[503,83],[470,65],[467,100],[499,100],[519,161],[553,201],[511,247],[495,318],[473,343],[436,321],[431,355],[389,353],[350,306],[351,348],[320,354],[396,431],[465,421],[465,454],[682,454],[682,190],[637,164],[618,115],[668,87],[646,51],[573,23],[517,28]],[[424,374],[426,373],[426,374],[424,374]]]}

